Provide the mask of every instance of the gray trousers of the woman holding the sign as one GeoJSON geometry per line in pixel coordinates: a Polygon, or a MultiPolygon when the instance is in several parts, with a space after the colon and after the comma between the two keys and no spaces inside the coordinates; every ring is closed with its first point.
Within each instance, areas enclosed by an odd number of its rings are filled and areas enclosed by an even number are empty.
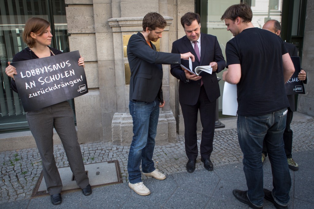
{"type": "Polygon", "coordinates": [[[73,111],[67,101],[26,113],[38,151],[50,195],[61,193],[62,182],[53,155],[53,127],[55,127],[77,185],[83,189],[89,184],[85,174],[78,137],[74,126],[73,111]]]}

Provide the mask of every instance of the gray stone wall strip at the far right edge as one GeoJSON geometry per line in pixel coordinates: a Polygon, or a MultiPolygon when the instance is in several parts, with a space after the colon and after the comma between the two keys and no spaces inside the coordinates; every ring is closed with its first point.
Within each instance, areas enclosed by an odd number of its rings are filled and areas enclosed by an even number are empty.
{"type": "Polygon", "coordinates": [[[306,94],[298,97],[298,111],[314,116],[314,0],[307,0],[302,68],[306,71],[306,94]]]}

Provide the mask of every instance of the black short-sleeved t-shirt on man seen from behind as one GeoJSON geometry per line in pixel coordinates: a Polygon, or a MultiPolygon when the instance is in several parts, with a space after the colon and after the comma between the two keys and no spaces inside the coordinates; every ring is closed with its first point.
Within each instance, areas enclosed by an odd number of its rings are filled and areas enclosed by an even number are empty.
{"type": "Polygon", "coordinates": [[[259,28],[248,28],[228,41],[227,67],[241,65],[237,84],[238,115],[265,115],[289,106],[284,87],[282,39],[259,28]]]}

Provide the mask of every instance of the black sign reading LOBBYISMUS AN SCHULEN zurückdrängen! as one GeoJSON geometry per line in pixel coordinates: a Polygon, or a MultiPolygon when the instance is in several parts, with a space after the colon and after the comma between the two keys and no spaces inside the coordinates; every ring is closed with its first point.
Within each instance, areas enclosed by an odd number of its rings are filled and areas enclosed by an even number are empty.
{"type": "Polygon", "coordinates": [[[88,92],[80,54],[72,51],[45,58],[13,62],[14,80],[24,111],[38,110],[88,92]]]}

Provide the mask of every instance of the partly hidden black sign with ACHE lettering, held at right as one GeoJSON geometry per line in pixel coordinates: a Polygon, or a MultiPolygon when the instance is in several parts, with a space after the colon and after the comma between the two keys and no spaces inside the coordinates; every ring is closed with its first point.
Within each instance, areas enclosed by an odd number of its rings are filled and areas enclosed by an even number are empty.
{"type": "Polygon", "coordinates": [[[300,57],[291,56],[291,60],[295,67],[295,72],[289,79],[289,81],[285,84],[287,95],[292,94],[305,94],[303,81],[300,81],[298,78],[298,74],[301,71],[301,62],[300,57]]]}

